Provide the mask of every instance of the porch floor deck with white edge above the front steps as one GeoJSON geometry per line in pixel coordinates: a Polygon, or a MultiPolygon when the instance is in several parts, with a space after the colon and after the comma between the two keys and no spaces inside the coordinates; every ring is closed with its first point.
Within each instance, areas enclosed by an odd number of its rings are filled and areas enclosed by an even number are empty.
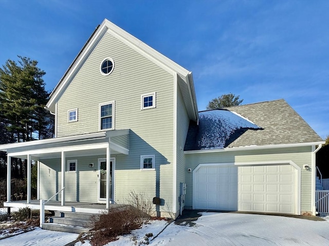
{"type": "MultiPolygon", "coordinates": [[[[4,202],[5,207],[30,207],[30,209],[40,210],[40,200],[31,200],[30,203],[27,201],[10,201],[4,202]]],[[[122,206],[122,204],[109,204],[109,208],[115,208],[122,206]]],[[[105,210],[106,204],[95,203],[95,202],[76,202],[76,201],[65,201],[65,205],[61,205],[61,201],[49,201],[45,204],[45,210],[50,211],[64,211],[64,212],[80,212],[80,213],[92,213],[98,214],[105,210]]]]}

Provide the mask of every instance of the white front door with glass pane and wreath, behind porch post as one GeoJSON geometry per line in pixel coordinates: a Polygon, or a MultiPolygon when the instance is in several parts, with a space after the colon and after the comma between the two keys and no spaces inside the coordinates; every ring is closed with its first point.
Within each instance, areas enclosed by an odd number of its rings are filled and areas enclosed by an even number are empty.
{"type": "Polygon", "coordinates": [[[106,176],[109,175],[109,197],[114,200],[114,167],[115,159],[111,158],[109,162],[109,172],[106,170],[106,158],[98,159],[98,200],[106,200],[106,176]]]}

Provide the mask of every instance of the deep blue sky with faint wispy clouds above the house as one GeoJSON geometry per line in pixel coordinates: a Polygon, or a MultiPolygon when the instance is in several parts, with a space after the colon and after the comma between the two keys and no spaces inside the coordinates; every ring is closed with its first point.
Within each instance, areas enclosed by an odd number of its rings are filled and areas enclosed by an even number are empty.
{"type": "Polygon", "coordinates": [[[0,0],[0,64],[36,60],[52,90],[104,18],[192,71],[199,110],[283,98],[329,135],[329,1],[0,0]]]}

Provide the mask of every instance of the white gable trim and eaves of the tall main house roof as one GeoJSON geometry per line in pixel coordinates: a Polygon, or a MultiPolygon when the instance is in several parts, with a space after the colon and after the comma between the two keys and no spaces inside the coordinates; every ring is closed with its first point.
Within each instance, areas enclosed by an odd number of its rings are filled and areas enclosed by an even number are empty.
{"type": "Polygon", "coordinates": [[[64,93],[65,89],[68,87],[70,82],[74,79],[75,75],[78,73],[84,62],[87,60],[89,55],[96,48],[97,44],[101,41],[102,37],[105,33],[109,33],[116,37],[118,40],[131,47],[145,58],[154,62],[161,68],[165,69],[167,72],[176,75],[180,78],[180,81],[184,81],[186,83],[184,88],[186,91],[183,94],[184,102],[186,104],[188,114],[191,120],[197,121],[198,113],[197,113],[197,104],[195,97],[195,90],[193,85],[192,72],[186,70],[185,68],[179,66],[177,63],[173,62],[165,55],[162,55],[158,51],[154,50],[147,44],[144,44],[140,40],[138,40],[133,35],[127,33],[123,29],[104,19],[101,25],[99,25],[92,36],[90,36],[87,43],[83,46],[82,50],[79,52],[76,59],[72,62],[68,70],[65,72],[63,78],[54,88],[54,90],[50,94],[50,99],[46,104],[46,108],[55,112],[55,105],[64,93]]]}

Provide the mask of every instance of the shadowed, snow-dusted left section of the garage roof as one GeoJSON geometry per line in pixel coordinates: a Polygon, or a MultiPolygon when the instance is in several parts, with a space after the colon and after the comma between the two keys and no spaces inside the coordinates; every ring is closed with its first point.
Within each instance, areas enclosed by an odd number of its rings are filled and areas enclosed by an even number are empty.
{"type": "Polygon", "coordinates": [[[199,112],[199,125],[190,124],[184,150],[225,148],[248,129],[260,126],[226,109],[199,112]]]}

